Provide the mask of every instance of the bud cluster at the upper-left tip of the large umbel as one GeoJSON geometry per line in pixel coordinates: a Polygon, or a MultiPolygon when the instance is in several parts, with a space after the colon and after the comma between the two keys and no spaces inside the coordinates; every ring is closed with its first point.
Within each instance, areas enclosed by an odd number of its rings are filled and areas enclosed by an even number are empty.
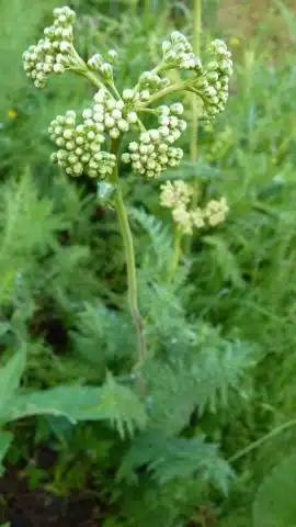
{"type": "Polygon", "coordinates": [[[62,74],[72,64],[72,24],[75,12],[68,8],[54,10],[54,24],[44,30],[44,38],[23,54],[24,69],[36,88],[43,88],[52,72],[62,74]]]}

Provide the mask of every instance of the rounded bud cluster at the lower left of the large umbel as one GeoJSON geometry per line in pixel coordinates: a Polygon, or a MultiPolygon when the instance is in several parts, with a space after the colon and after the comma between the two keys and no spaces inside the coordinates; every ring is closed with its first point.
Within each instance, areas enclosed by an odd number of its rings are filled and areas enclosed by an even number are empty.
{"type": "Polygon", "coordinates": [[[114,155],[101,150],[105,137],[104,126],[89,117],[84,110],[83,124],[76,124],[76,113],[68,111],[58,115],[50,124],[50,138],[60,148],[52,155],[52,160],[69,176],[79,177],[82,172],[91,178],[110,176],[116,162],[114,155]]]}

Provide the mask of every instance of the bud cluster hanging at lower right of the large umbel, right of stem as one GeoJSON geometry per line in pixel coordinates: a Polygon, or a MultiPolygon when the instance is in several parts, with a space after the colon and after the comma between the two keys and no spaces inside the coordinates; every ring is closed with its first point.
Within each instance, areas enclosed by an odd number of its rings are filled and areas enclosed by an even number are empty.
{"type": "Polygon", "coordinates": [[[157,112],[160,126],[143,132],[139,142],[129,143],[129,153],[122,156],[124,162],[132,162],[133,169],[147,178],[157,178],[168,166],[177,167],[183,157],[181,148],[170,146],[186,128],[186,122],[179,119],[183,105],[162,105],[157,112]]]}

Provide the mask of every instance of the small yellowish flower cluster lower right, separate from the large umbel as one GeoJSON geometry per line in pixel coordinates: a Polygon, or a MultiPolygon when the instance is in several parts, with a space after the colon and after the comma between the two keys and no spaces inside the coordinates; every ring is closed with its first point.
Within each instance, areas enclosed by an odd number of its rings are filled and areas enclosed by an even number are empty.
{"type": "Polygon", "coordinates": [[[160,189],[160,204],[171,209],[172,218],[183,234],[191,235],[194,227],[214,227],[225,221],[229,211],[225,197],[210,200],[204,209],[192,209],[193,188],[182,180],[167,181],[160,189]]]}

